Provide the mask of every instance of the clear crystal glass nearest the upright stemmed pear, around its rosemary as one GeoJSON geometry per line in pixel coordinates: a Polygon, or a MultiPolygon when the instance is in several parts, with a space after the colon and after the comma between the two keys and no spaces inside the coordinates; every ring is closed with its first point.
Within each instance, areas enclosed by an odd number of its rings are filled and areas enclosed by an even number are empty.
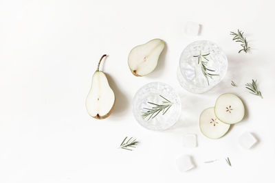
{"type": "Polygon", "coordinates": [[[135,97],[133,98],[133,115],[137,122],[148,130],[168,129],[175,125],[179,119],[180,112],[181,100],[179,99],[179,95],[177,95],[175,90],[168,84],[161,82],[148,83],[137,90],[137,93],[135,93],[135,97]],[[161,111],[155,118],[148,120],[147,117],[144,119],[142,114],[147,111],[144,108],[155,107],[148,103],[148,101],[156,104],[162,104],[162,101],[165,101],[165,99],[159,95],[168,99],[173,103],[173,105],[170,106],[165,114],[161,111]]]}

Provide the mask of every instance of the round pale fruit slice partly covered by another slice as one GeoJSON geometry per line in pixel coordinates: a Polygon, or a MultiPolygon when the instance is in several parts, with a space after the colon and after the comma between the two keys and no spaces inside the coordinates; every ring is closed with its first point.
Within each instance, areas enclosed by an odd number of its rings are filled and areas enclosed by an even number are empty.
{"type": "Polygon", "coordinates": [[[228,132],[230,125],[225,124],[214,114],[214,108],[207,108],[201,112],[199,117],[199,128],[201,133],[208,138],[221,138],[228,132]]]}

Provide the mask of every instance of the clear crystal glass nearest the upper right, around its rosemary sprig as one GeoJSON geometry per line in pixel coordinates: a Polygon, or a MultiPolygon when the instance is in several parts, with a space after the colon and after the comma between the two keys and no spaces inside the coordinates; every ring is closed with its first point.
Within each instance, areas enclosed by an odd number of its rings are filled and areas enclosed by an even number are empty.
{"type": "Polygon", "coordinates": [[[228,69],[228,59],[221,48],[209,40],[198,40],[188,45],[181,53],[179,68],[177,69],[177,80],[179,84],[190,93],[204,93],[215,85],[219,84],[228,69]],[[201,53],[201,60],[205,63],[207,73],[214,74],[206,76],[203,74],[203,65],[198,63],[201,53]],[[209,53],[209,55],[208,55],[209,53]],[[207,55],[207,56],[206,56],[207,55]]]}

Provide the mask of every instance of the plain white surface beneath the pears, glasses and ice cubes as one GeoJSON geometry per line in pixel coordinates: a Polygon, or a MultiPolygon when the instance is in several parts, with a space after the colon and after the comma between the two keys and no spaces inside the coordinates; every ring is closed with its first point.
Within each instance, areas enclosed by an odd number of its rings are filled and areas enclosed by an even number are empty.
{"type": "Polygon", "coordinates": [[[0,182],[275,182],[273,1],[0,1],[0,182]],[[184,34],[186,21],[203,26],[201,36],[184,34]],[[242,29],[252,47],[239,54],[230,31],[242,29]],[[153,38],[166,42],[157,69],[146,77],[129,71],[129,51],[153,38]],[[181,51],[194,40],[220,45],[228,73],[207,93],[186,92],[176,77],[181,51]],[[108,119],[89,117],[85,97],[99,58],[116,96],[108,119]],[[259,82],[263,99],[244,88],[259,82]],[[234,80],[239,87],[234,88],[234,80]],[[181,118],[166,132],[137,124],[133,95],[148,82],[173,86],[181,118]],[[199,114],[222,93],[236,93],[245,119],[223,138],[199,132],[199,114]],[[243,132],[259,143],[239,146],[243,132]],[[198,147],[182,146],[187,133],[198,147]],[[141,142],[118,149],[125,136],[141,142]],[[175,159],[191,155],[196,168],[181,173],[175,159]],[[225,162],[230,157],[232,167],[225,162]],[[206,160],[219,159],[212,164],[206,160]]]}

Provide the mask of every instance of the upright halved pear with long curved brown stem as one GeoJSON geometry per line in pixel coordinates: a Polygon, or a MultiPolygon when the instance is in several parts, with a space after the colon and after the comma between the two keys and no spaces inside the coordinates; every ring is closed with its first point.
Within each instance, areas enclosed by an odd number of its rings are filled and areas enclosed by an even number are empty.
{"type": "Polygon", "coordinates": [[[87,112],[91,117],[96,119],[109,117],[115,105],[115,94],[109,86],[106,75],[102,71],[99,71],[102,58],[98,62],[98,69],[93,75],[91,89],[86,99],[87,112]]]}

